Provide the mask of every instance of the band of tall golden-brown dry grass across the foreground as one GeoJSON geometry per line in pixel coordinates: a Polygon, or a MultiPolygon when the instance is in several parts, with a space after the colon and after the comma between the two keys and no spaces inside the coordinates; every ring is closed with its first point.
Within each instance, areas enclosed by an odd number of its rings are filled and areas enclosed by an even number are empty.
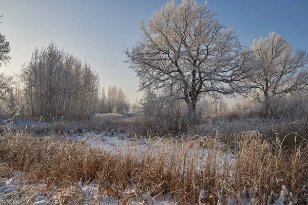
{"type": "Polygon", "coordinates": [[[218,136],[164,137],[95,148],[19,132],[3,136],[0,157],[4,172],[26,172],[30,181],[43,179],[47,188],[97,179],[101,195],[118,199],[149,193],[170,195],[182,204],[227,204],[242,198],[266,204],[286,186],[287,202],[307,203],[306,141],[282,147],[281,140],[264,140],[258,132],[239,134],[233,141],[227,146],[218,136]],[[133,191],[127,196],[123,190],[133,191]]]}

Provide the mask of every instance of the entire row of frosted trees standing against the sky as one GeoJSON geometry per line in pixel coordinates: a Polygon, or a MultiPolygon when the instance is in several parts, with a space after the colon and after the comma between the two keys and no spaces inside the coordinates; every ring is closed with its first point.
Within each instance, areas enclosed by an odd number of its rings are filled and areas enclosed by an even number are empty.
{"type": "MultiPolygon", "coordinates": [[[[207,3],[170,1],[148,22],[142,19],[140,31],[136,46],[124,49],[125,62],[139,77],[141,91],[152,90],[173,103],[183,100],[189,124],[198,123],[197,107],[204,98],[248,97],[262,105],[264,117],[271,117],[277,99],[308,90],[306,51],[294,50],[276,32],[245,47],[207,3]]],[[[0,40],[0,61],[6,63],[9,44],[5,36],[0,40]]],[[[89,63],[81,63],[53,43],[34,50],[18,81],[15,96],[25,99],[25,115],[82,121],[94,112],[125,113],[129,108],[121,88],[110,86],[99,93],[99,77],[89,63]]],[[[219,109],[216,106],[215,113],[219,109]]]]}

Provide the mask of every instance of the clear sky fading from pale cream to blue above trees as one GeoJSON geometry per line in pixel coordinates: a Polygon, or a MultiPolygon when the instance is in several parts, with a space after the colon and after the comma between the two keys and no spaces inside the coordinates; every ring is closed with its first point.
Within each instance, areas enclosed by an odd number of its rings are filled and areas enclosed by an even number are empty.
{"type": "MultiPolygon", "coordinates": [[[[11,63],[0,72],[18,73],[35,47],[55,42],[65,51],[85,58],[100,75],[101,87],[122,87],[133,102],[138,79],[122,61],[123,47],[132,47],[140,38],[141,17],[167,0],[0,0],[0,32],[11,45],[11,63]]],[[[181,3],[181,0],[177,0],[181,3]]],[[[203,0],[198,1],[204,4],[203,0]]],[[[228,28],[235,28],[243,44],[270,32],[287,37],[293,48],[308,51],[307,0],[208,0],[228,28]]]]}

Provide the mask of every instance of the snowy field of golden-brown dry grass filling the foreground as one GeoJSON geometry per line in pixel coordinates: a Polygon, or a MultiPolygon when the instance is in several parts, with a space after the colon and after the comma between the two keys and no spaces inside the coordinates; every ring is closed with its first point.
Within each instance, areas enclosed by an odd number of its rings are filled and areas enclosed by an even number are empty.
{"type": "Polygon", "coordinates": [[[0,202],[308,202],[308,144],[296,134],[274,140],[259,131],[227,140],[219,132],[141,136],[125,132],[130,118],[108,114],[100,120],[104,126],[96,129],[93,124],[37,124],[30,119],[16,119],[3,127],[0,202]],[[293,141],[293,146],[283,140],[293,141]]]}

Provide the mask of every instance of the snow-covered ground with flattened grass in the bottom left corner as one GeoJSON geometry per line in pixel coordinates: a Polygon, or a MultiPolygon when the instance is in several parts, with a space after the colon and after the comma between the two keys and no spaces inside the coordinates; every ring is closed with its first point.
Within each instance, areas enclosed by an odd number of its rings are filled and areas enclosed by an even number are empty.
{"type": "Polygon", "coordinates": [[[98,194],[98,183],[87,185],[78,182],[66,189],[46,187],[45,183],[31,184],[23,173],[13,173],[0,177],[0,204],[175,204],[170,196],[135,193],[133,189],[123,193],[124,199],[118,200],[98,194]]]}

